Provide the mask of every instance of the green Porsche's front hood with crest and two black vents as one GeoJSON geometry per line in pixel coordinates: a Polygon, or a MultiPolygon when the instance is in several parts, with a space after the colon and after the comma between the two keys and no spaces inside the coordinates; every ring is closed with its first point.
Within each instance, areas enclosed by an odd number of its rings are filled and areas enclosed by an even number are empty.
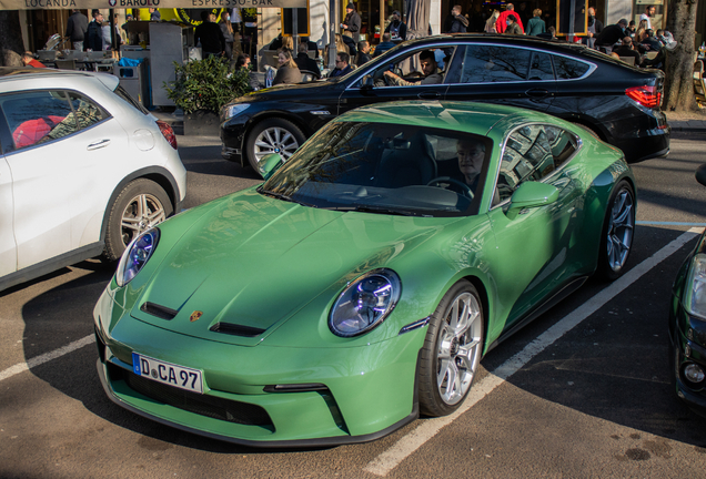
{"type": "MultiPolygon", "coordinates": [[[[322,293],[332,302],[347,282],[390,265],[453,220],[326,211],[241,192],[199,216],[169,252],[158,246],[159,266],[131,315],[254,346],[322,293]]],[[[165,235],[179,234],[167,226],[165,235]]]]}

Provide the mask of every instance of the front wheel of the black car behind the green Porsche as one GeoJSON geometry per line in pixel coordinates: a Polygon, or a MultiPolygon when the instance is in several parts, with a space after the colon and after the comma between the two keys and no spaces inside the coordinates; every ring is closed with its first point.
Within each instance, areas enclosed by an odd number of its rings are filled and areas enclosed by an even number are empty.
{"type": "Polygon", "coordinates": [[[258,163],[271,153],[279,153],[286,162],[306,139],[292,122],[269,119],[258,123],[248,135],[245,155],[250,165],[258,171],[258,163]]]}

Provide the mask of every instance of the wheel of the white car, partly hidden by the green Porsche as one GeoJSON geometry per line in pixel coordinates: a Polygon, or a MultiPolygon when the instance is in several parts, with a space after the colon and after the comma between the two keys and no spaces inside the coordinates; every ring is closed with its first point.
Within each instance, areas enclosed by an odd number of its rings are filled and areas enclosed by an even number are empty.
{"type": "Polygon", "coordinates": [[[162,186],[147,179],[128,183],[108,212],[104,258],[119,259],[132,240],[172,213],[172,203],[162,186]]]}

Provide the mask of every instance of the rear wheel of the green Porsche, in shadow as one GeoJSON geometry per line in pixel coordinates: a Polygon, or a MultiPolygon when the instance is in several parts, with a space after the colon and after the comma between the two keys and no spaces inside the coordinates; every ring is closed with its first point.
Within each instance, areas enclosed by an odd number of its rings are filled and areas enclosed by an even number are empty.
{"type": "Polygon", "coordinates": [[[625,264],[633,247],[635,231],[635,193],[625,180],[611,193],[603,221],[598,273],[605,279],[617,279],[625,273],[625,264]]]}

